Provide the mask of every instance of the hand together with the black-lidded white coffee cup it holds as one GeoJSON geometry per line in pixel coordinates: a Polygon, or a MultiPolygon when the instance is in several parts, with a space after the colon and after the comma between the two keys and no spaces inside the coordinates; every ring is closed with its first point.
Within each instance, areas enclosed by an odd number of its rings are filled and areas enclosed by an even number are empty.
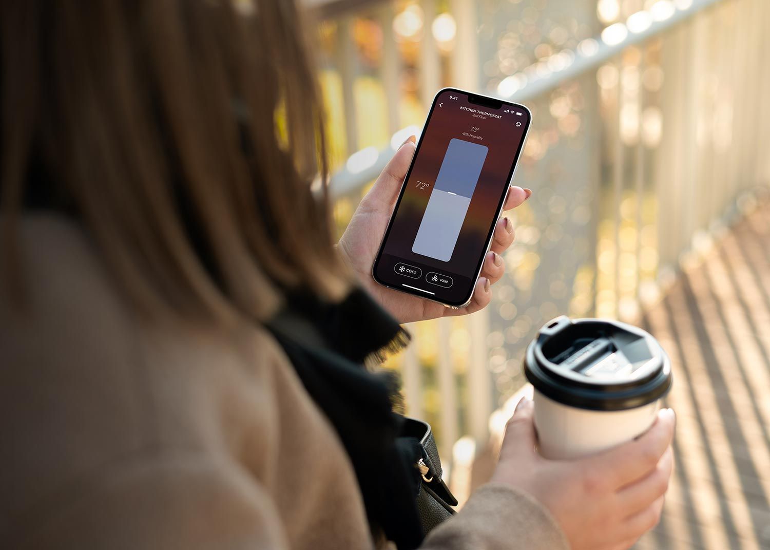
{"type": "Polygon", "coordinates": [[[508,421],[492,481],[540,501],[571,550],[630,548],[658,523],[673,468],[675,414],[658,411],[668,357],[635,327],[560,317],[527,350],[525,372],[534,402],[508,421]]]}

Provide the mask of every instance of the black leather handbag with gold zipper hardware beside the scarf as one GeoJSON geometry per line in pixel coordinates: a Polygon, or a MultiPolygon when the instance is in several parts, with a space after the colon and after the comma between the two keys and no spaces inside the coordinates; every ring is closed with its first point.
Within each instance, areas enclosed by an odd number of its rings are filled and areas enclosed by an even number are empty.
{"type": "Polygon", "coordinates": [[[423,534],[427,535],[442,521],[457,513],[452,508],[457,506],[457,498],[454,498],[441,478],[441,460],[430,424],[416,418],[404,417],[401,437],[417,439],[420,442],[422,456],[414,464],[420,472],[416,502],[423,534]]]}

